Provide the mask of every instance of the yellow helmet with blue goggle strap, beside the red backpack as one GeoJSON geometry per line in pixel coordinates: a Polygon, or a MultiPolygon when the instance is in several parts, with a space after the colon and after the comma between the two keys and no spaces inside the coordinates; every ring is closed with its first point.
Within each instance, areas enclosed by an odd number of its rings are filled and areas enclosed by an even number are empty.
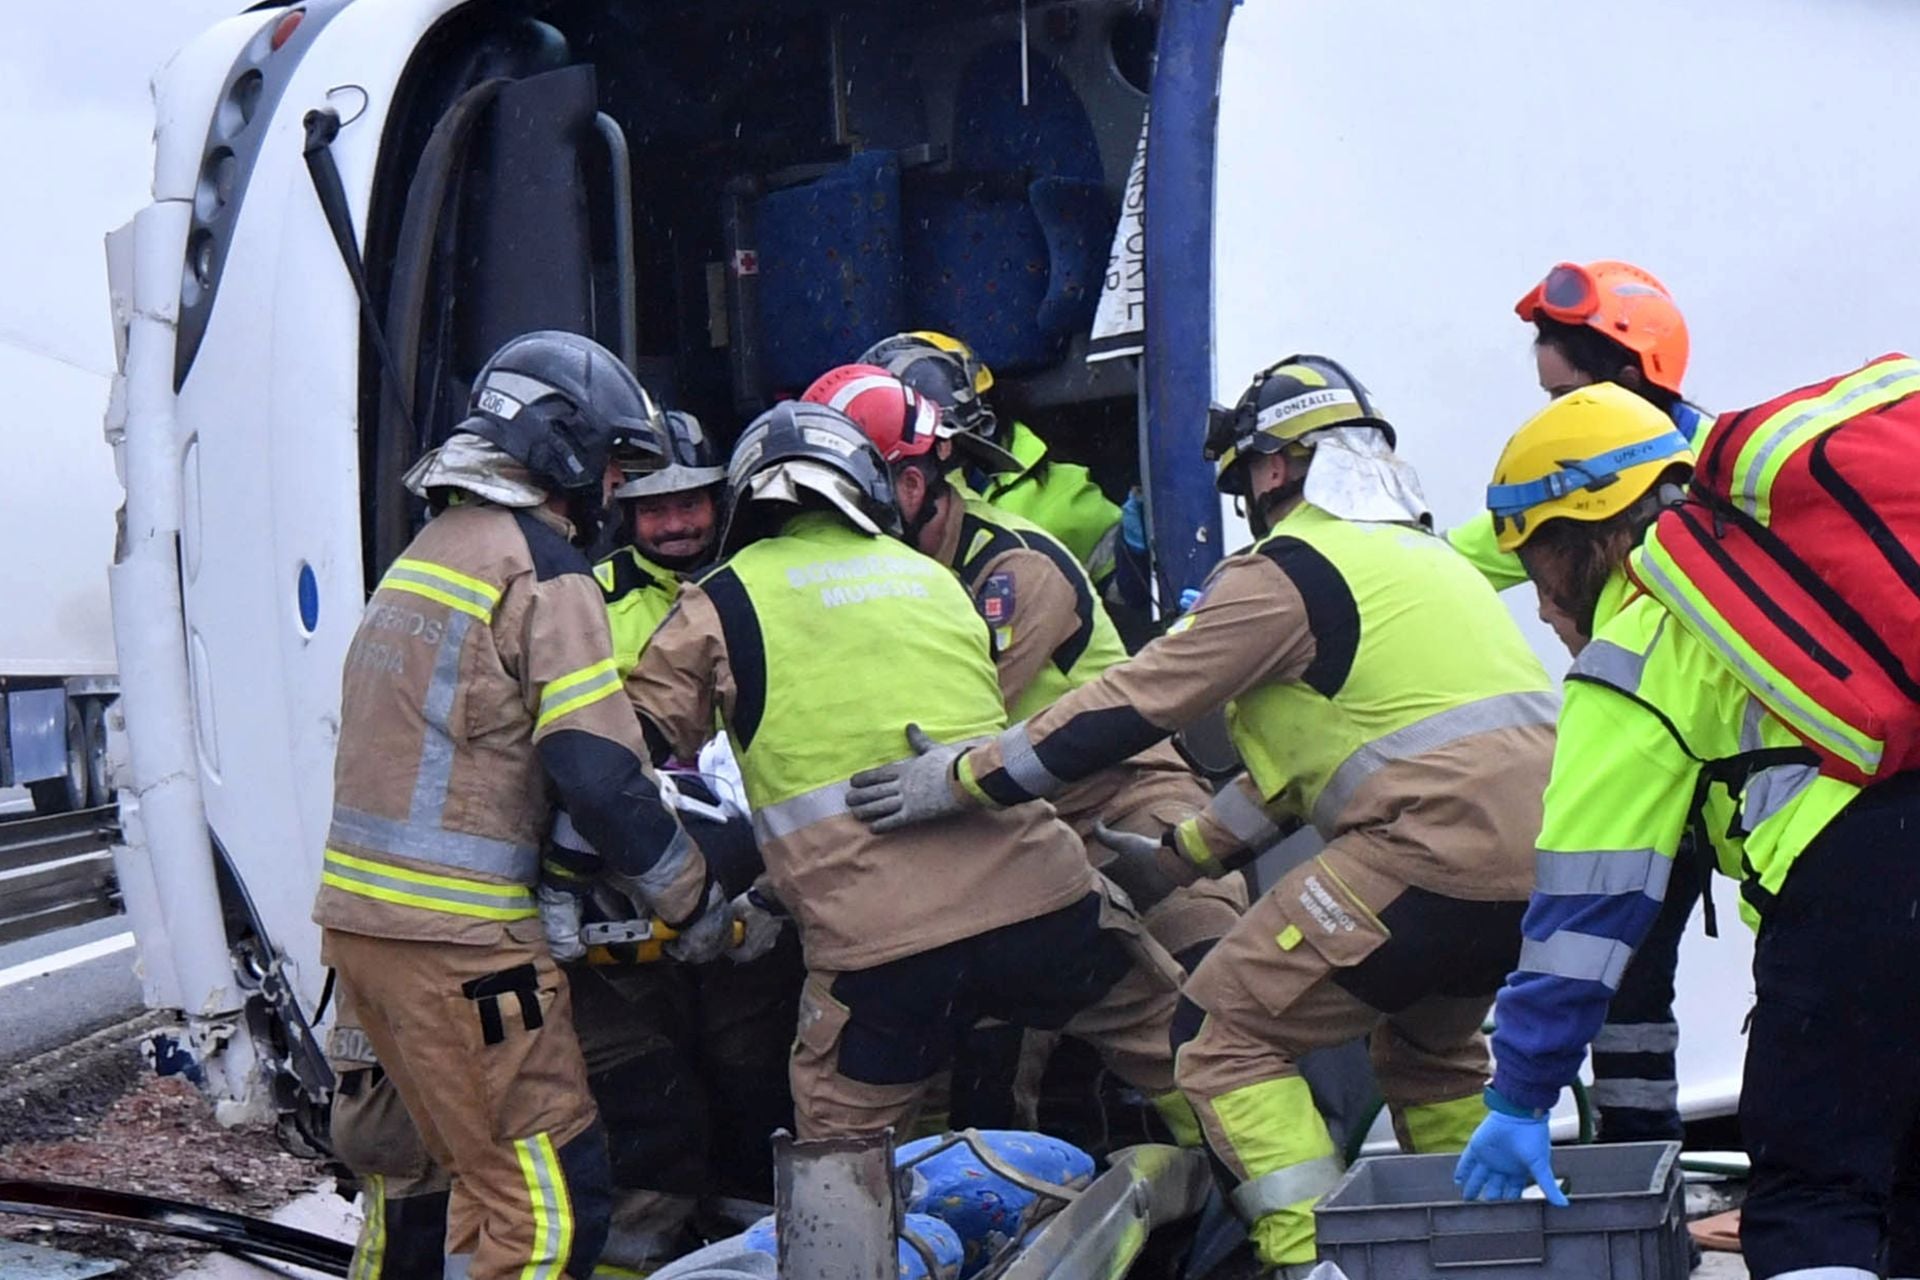
{"type": "Polygon", "coordinates": [[[1605,520],[1653,487],[1693,445],[1665,413],[1626,388],[1596,382],[1536,413],[1513,434],[1486,487],[1501,551],[1519,551],[1549,520],[1605,520]]]}

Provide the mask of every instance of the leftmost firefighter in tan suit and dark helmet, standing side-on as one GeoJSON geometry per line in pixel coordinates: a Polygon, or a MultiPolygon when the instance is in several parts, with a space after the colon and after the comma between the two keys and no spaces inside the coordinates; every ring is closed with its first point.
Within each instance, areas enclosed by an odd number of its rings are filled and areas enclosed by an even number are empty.
{"type": "Polygon", "coordinates": [[[609,887],[685,961],[732,935],[662,806],[580,551],[657,411],[605,347],[505,344],[407,486],[436,512],[380,580],[342,679],[313,919],[369,1048],[453,1178],[449,1265],[584,1280],[609,1221],[607,1140],[570,992],[534,906],[557,794],[609,887]]]}

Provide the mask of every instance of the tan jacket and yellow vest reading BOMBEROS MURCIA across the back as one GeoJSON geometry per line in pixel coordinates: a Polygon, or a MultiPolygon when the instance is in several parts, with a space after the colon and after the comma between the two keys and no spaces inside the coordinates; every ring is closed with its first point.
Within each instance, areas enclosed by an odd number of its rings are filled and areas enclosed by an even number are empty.
{"type": "Polygon", "coordinates": [[[676,754],[720,714],[808,965],[864,969],[1068,906],[1092,887],[1052,810],[874,835],[847,779],[1006,723],[987,628],[939,560],[803,512],[682,591],[628,695],[676,754]]]}

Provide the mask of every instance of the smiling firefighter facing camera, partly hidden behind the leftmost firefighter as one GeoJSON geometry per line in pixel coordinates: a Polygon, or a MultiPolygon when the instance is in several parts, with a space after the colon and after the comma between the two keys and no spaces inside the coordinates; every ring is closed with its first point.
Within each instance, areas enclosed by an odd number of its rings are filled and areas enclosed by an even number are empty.
{"type": "MultiPolygon", "coordinates": [[[[593,566],[622,677],[680,585],[712,560],[724,512],[726,468],[699,418],[670,409],[660,428],[657,449],[614,455],[626,466],[614,489],[622,545],[593,566]]],[[[762,927],[728,950],[733,963],[572,969],[589,1084],[612,1153],[612,1230],[601,1265],[630,1272],[684,1251],[703,1199],[772,1199],[768,1136],[793,1126],[787,1048],[804,977],[793,931],[770,900],[749,896],[766,867],[737,804],[726,737],[716,735],[697,760],[666,762],[662,775],[714,881],[762,927]]],[[[564,858],[555,848],[549,869],[564,858]]],[[[582,950],[574,944],[564,954],[582,950]]],[[[622,960],[622,948],[611,958],[622,960]]]]}

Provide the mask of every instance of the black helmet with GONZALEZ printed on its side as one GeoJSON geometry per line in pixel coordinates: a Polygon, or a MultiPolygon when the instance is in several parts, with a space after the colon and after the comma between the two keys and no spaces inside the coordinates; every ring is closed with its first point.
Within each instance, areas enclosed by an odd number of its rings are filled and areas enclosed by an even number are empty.
{"type": "Polygon", "coordinates": [[[1373,426],[1394,445],[1394,428],[1380,416],[1359,378],[1325,355],[1288,355],[1254,374],[1233,409],[1208,413],[1206,457],[1221,493],[1246,493],[1246,459],[1279,453],[1292,441],[1331,426],[1373,426]]]}

